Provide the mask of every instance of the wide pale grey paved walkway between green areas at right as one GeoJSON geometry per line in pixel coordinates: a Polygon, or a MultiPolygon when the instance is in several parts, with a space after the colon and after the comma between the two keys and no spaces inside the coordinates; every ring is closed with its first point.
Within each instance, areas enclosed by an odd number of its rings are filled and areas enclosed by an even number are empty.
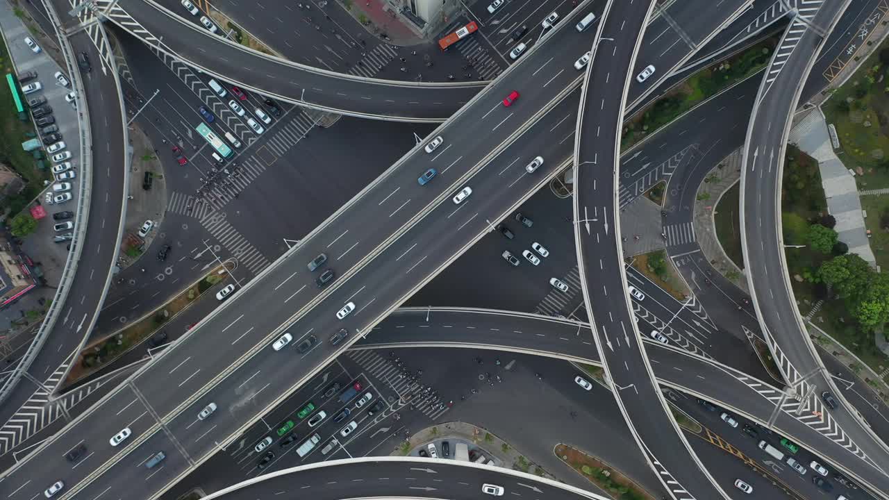
{"type": "Polygon", "coordinates": [[[853,176],[834,153],[821,108],[808,111],[794,125],[790,130],[789,142],[797,144],[800,150],[818,162],[828,212],[837,219],[834,230],[837,231],[839,240],[849,246],[849,253],[858,254],[876,267],[877,258],[870,249],[858,187],[853,176]]]}

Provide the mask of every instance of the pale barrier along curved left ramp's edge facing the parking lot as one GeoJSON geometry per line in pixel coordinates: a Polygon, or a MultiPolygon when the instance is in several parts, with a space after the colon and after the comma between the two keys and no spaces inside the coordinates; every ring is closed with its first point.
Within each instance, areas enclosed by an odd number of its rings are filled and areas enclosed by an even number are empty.
{"type": "MultiPolygon", "coordinates": [[[[52,26],[55,28],[62,57],[65,60],[65,65],[68,67],[68,77],[70,78],[71,85],[76,89],[79,95],[85,95],[79,73],[72,70],[76,69],[74,52],[68,44],[68,40],[62,36],[59,31],[61,21],[52,9],[52,4],[45,0],[43,4],[44,9],[52,20],[52,26]]],[[[7,46],[9,46],[9,44],[7,44],[7,46]]],[[[77,214],[74,220],[75,230],[74,238],[71,239],[71,250],[68,252],[65,268],[62,270],[61,278],[59,279],[59,287],[56,290],[55,296],[52,298],[49,310],[46,311],[46,317],[44,318],[43,324],[40,325],[37,335],[35,335],[34,340],[31,341],[31,345],[28,346],[28,351],[22,356],[19,365],[15,367],[12,375],[4,381],[3,387],[0,388],[0,404],[3,404],[4,400],[9,397],[10,393],[12,393],[12,389],[19,383],[21,376],[29,367],[31,367],[31,364],[37,357],[37,353],[43,348],[46,338],[49,336],[50,332],[52,332],[52,328],[55,327],[60,310],[68,299],[68,292],[71,290],[71,285],[77,272],[77,262],[80,262],[80,255],[83,253],[83,246],[81,243],[86,234],[86,221],[89,219],[90,214],[89,202],[92,199],[92,148],[90,147],[91,129],[86,100],[78,99],[76,100],[76,103],[77,126],[80,131],[81,181],[79,182],[80,190],[77,194],[77,214]]]]}

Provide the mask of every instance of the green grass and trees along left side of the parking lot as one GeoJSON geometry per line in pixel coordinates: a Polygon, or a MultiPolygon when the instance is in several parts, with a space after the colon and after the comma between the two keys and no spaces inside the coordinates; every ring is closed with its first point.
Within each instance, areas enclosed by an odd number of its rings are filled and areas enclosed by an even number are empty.
{"type": "MultiPolygon", "coordinates": [[[[0,69],[6,73],[15,73],[12,69],[12,62],[6,45],[0,39],[0,69]]],[[[24,100],[24,96],[22,100],[24,100]]],[[[24,104],[24,103],[23,103],[24,104]]],[[[43,189],[44,180],[50,176],[46,171],[41,171],[36,167],[36,159],[43,157],[43,149],[37,149],[35,152],[28,152],[21,149],[21,143],[28,141],[34,137],[34,128],[28,119],[27,104],[26,111],[19,115],[15,103],[12,101],[12,93],[10,93],[9,85],[0,85],[0,163],[8,165],[15,173],[18,173],[25,182],[25,189],[20,193],[9,196],[0,200],[0,209],[8,209],[11,214],[18,214],[23,210],[28,202],[34,199],[43,189]],[[28,137],[31,134],[31,137],[28,137]],[[35,154],[37,157],[35,157],[35,154]]]]}

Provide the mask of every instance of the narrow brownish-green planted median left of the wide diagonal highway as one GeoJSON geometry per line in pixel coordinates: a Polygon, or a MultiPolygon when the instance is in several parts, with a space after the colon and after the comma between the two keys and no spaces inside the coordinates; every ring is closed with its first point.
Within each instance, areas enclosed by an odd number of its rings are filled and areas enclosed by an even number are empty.
{"type": "Polygon", "coordinates": [[[204,275],[204,278],[198,279],[182,293],[176,295],[156,310],[149,312],[129,327],[87,345],[80,352],[76,363],[71,368],[70,373],[68,373],[64,386],[76,383],[84,377],[98,372],[101,368],[107,367],[126,352],[140,345],[140,343],[145,342],[149,337],[158,333],[164,327],[164,324],[175,318],[183,310],[188,309],[188,306],[210,291],[217,283],[224,280],[233,269],[234,264],[230,262],[216,267],[204,275]]]}

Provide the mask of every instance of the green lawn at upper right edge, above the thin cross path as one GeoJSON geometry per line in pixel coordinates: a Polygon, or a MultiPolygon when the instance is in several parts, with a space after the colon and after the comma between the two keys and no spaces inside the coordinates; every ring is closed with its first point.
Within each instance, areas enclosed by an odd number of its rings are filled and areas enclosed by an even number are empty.
{"type": "Polygon", "coordinates": [[[860,189],[889,187],[889,41],[880,45],[821,109],[837,128],[840,159],[860,189]]]}

